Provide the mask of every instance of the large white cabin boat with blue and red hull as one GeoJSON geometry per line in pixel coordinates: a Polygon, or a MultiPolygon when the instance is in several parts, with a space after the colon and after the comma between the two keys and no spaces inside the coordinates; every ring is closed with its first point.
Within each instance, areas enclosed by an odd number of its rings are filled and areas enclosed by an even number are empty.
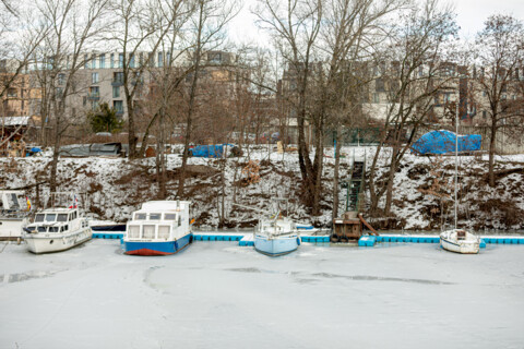
{"type": "Polygon", "coordinates": [[[151,201],[142,204],[127,224],[124,253],[166,255],[192,242],[189,201],[151,201]]]}

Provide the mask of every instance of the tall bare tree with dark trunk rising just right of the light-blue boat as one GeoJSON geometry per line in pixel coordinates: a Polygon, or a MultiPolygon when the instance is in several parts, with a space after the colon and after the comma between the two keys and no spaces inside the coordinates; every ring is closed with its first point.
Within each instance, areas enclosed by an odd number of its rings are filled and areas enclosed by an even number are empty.
{"type": "MultiPolygon", "coordinates": [[[[259,1],[257,15],[263,28],[269,29],[275,45],[284,59],[286,72],[283,93],[293,105],[298,125],[298,161],[307,202],[313,215],[320,214],[320,195],[317,181],[321,172],[322,152],[317,147],[314,164],[311,161],[306,144],[306,122],[308,120],[308,91],[310,88],[311,71],[314,69],[314,44],[323,20],[321,0],[289,0],[285,3],[273,0],[259,1]]],[[[322,122],[317,124],[317,142],[322,135],[322,122]]],[[[321,144],[321,143],[320,143],[321,144]]],[[[317,145],[320,145],[317,144],[317,145]]]]}

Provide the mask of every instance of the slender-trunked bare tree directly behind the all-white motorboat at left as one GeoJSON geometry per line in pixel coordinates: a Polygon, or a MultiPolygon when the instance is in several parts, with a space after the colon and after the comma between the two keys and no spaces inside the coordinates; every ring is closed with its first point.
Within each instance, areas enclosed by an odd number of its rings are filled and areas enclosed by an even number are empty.
{"type": "Polygon", "coordinates": [[[53,155],[49,174],[49,188],[57,189],[57,166],[60,142],[71,124],[74,107],[71,99],[81,89],[79,71],[85,67],[83,52],[96,43],[103,27],[108,0],[44,0],[39,14],[50,26],[38,51],[40,88],[47,95],[44,103],[53,120],[53,155]]]}

